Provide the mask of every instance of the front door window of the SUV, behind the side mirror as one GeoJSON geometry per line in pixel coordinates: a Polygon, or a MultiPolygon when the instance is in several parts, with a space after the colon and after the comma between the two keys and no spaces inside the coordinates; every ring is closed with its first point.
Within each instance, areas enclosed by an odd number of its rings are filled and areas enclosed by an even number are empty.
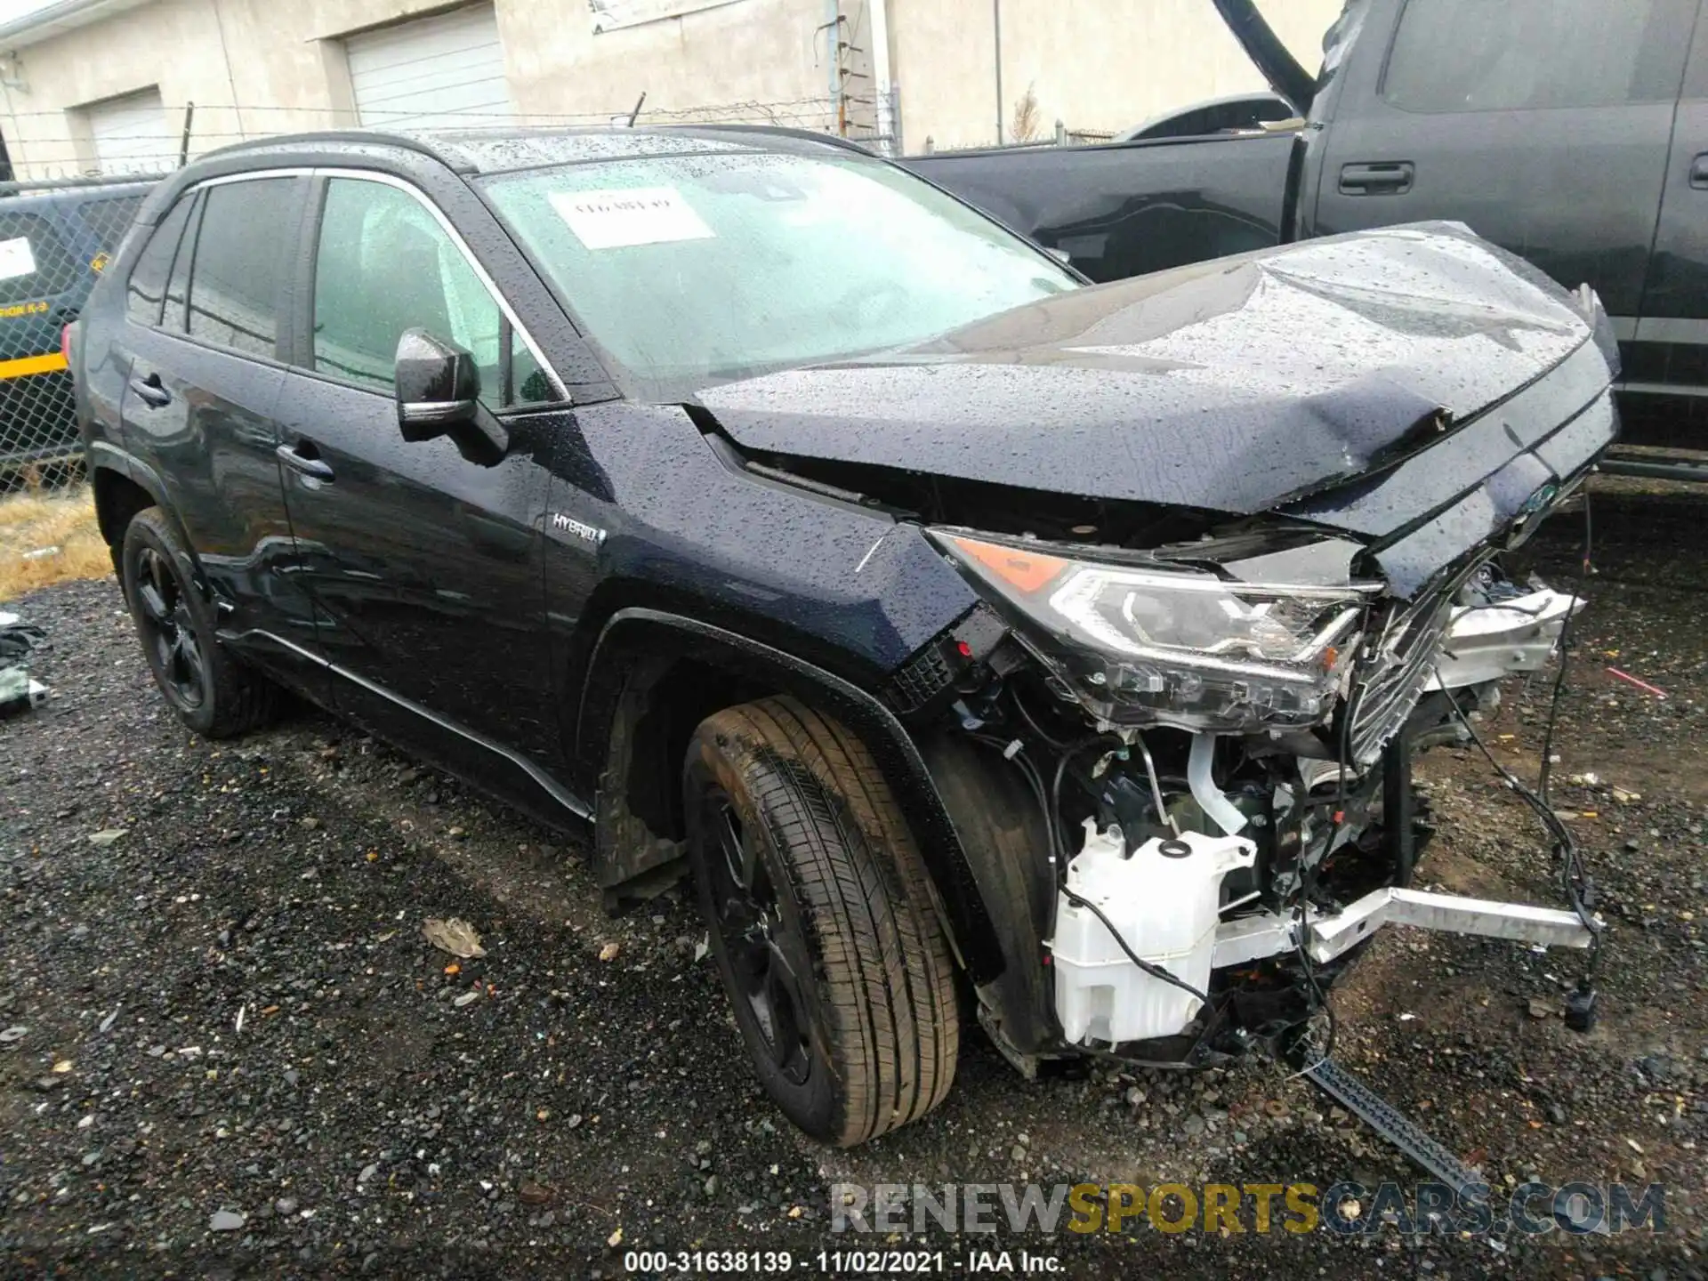
{"type": "Polygon", "coordinates": [[[473,352],[480,398],[499,408],[504,326],[463,251],[408,191],[333,178],[314,258],[314,369],[391,391],[398,336],[417,328],[473,352]]]}

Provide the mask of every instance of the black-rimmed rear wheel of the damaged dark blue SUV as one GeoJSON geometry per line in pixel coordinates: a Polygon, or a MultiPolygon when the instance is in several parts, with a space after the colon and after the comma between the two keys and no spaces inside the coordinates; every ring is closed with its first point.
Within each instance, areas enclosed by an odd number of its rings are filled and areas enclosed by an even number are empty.
{"type": "Polygon", "coordinates": [[[277,687],[224,646],[214,610],[190,581],[190,552],[159,507],[125,528],[120,581],[154,683],[173,712],[207,738],[231,738],[272,719],[277,687]]]}

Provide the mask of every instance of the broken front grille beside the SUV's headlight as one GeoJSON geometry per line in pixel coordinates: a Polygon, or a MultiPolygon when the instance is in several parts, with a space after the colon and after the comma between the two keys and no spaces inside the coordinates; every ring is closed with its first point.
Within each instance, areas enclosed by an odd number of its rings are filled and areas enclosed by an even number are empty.
{"type": "Polygon", "coordinates": [[[1365,651],[1353,675],[1348,748],[1358,765],[1373,765],[1418,705],[1452,622],[1454,596],[1486,560],[1477,555],[1454,565],[1413,600],[1389,606],[1375,647],[1365,651]]]}

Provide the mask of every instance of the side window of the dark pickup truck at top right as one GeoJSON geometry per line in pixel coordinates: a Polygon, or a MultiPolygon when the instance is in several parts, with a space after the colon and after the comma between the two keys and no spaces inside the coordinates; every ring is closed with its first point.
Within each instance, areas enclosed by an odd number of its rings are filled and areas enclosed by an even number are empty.
{"type": "Polygon", "coordinates": [[[1670,102],[1696,0],[1409,0],[1382,97],[1404,111],[1670,102]]]}

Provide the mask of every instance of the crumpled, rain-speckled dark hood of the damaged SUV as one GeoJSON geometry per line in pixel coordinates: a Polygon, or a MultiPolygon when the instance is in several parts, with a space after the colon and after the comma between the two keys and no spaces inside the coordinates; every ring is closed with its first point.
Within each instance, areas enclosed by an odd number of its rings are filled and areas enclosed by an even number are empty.
{"type": "MultiPolygon", "coordinates": [[[[1254,514],[1418,454],[1590,338],[1535,268],[1421,224],[1073,290],[699,400],[752,451],[1254,514]]],[[[1568,417],[1612,379],[1590,357],[1568,417]]]]}

